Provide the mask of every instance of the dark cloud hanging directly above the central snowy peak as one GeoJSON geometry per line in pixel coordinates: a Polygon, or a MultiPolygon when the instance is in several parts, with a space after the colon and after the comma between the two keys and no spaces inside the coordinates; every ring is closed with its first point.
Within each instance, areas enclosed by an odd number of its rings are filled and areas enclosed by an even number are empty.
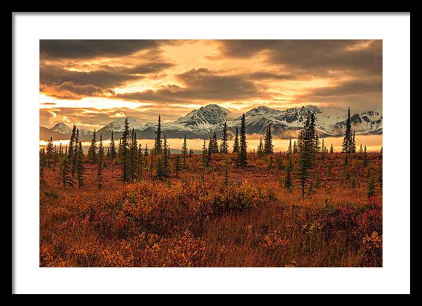
{"type": "Polygon", "coordinates": [[[189,102],[193,100],[226,101],[262,97],[264,92],[248,75],[216,75],[206,68],[192,69],[176,75],[184,87],[167,85],[157,90],[146,90],[117,95],[136,101],[189,102]]]}

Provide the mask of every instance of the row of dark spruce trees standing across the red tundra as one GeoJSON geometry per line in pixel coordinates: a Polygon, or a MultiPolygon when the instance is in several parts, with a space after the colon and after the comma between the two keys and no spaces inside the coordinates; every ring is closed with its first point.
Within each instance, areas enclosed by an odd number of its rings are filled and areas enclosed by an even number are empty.
{"type": "MultiPolygon", "coordinates": [[[[306,120],[304,127],[298,135],[297,141],[289,140],[287,148],[287,160],[283,165],[283,158],[281,152],[276,158],[276,169],[285,170],[284,186],[290,190],[293,187],[293,174],[298,181],[298,186],[302,193],[313,193],[314,186],[319,185],[319,173],[314,173],[314,169],[319,159],[324,160],[326,155],[334,153],[333,144],[329,150],[325,144],[324,139],[320,141],[319,135],[316,132],[316,118],[314,113],[310,113],[306,120]],[[298,158],[292,159],[292,154],[298,154],[298,158]],[[294,161],[294,163],[293,163],[294,161]]],[[[209,139],[208,144],[206,140],[203,142],[203,170],[210,166],[212,154],[228,154],[229,143],[227,134],[227,125],[224,123],[222,127],[222,134],[220,139],[217,139],[217,132],[215,131],[209,139]]],[[[350,108],[347,110],[347,120],[345,122],[345,136],[343,139],[343,153],[345,155],[345,166],[348,164],[349,153],[356,152],[355,133],[352,131],[352,122],[350,118],[350,108]]],[[[241,116],[240,129],[236,126],[234,135],[233,153],[235,153],[235,162],[237,167],[245,167],[248,165],[247,154],[247,140],[245,129],[245,115],[241,116]]],[[[255,150],[254,150],[255,152],[255,150]]],[[[366,152],[366,146],[360,145],[359,153],[363,155],[363,166],[370,169],[369,159],[366,152]]],[[[381,148],[382,153],[382,148],[381,148]]],[[[70,136],[69,146],[54,146],[52,138],[49,139],[46,148],[41,148],[39,153],[40,160],[40,181],[44,175],[44,167],[55,168],[59,165],[60,171],[58,174],[58,186],[84,186],[84,170],[85,164],[91,164],[97,170],[98,187],[103,186],[103,168],[107,165],[120,168],[120,179],[124,182],[131,182],[150,177],[153,179],[163,180],[170,177],[172,171],[179,177],[179,172],[188,170],[187,159],[193,155],[193,149],[188,149],[188,141],[186,135],[181,144],[181,153],[174,154],[173,158],[170,155],[170,146],[167,143],[165,134],[161,129],[161,116],[158,116],[158,125],[155,132],[154,146],[151,150],[148,145],[142,148],[138,144],[136,138],[136,130],[129,129],[129,120],[125,118],[124,129],[119,139],[118,148],[115,145],[115,138],[113,131],[110,134],[110,145],[108,146],[105,155],[103,148],[103,136],[99,135],[99,144],[97,141],[97,133],[94,130],[89,146],[87,156],[85,157],[82,150],[82,143],[79,140],[79,129],[73,125],[72,134],[70,136]],[[107,157],[105,159],[105,157],[107,157]],[[155,172],[153,173],[153,170],[155,172]]],[[[271,124],[267,126],[264,134],[264,139],[260,139],[257,147],[257,155],[270,155],[269,169],[272,168],[274,154],[273,136],[271,131],[271,124]]],[[[226,158],[226,179],[229,171],[229,159],[226,158]]],[[[328,172],[331,170],[328,169],[328,172]]],[[[203,172],[204,173],[204,172],[203,172]]]]}

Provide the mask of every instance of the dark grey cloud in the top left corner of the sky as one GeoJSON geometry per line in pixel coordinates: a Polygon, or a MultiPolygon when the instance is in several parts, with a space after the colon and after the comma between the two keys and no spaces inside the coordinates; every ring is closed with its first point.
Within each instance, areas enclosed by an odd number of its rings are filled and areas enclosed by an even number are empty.
{"type": "Polygon", "coordinates": [[[157,46],[146,39],[41,39],[39,53],[43,59],[116,57],[157,46]]]}

